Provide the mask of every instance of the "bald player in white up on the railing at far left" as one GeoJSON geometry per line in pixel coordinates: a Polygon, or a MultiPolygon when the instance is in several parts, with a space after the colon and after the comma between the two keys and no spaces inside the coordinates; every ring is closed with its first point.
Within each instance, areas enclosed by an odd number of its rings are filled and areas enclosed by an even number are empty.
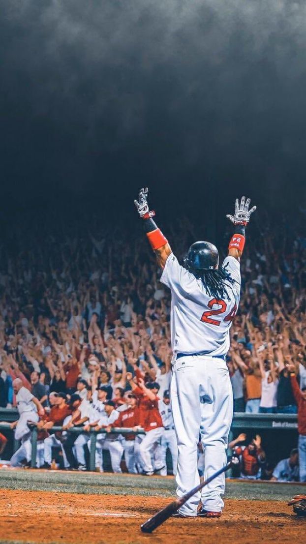
{"type": "Polygon", "coordinates": [[[21,446],[11,458],[12,467],[21,467],[22,461],[31,459],[32,443],[30,441],[30,429],[28,422],[38,422],[39,416],[44,416],[45,410],[39,400],[22,385],[22,380],[13,380],[13,390],[16,395],[17,410],[19,411],[18,421],[11,424],[15,429],[15,440],[21,440],[21,446]]]}

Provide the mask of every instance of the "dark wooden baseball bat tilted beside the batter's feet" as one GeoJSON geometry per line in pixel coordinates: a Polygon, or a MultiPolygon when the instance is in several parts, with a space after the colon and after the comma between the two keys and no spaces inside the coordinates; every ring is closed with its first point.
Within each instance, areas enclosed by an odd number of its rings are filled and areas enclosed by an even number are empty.
{"type": "Polygon", "coordinates": [[[189,498],[191,498],[195,493],[200,491],[205,485],[209,484],[212,480],[217,478],[217,476],[219,476],[223,472],[228,471],[228,469],[231,468],[233,465],[236,465],[237,462],[237,458],[232,458],[224,467],[222,467],[221,469],[219,469],[219,471],[215,472],[215,474],[212,474],[209,478],[207,478],[207,480],[201,482],[199,485],[188,491],[188,493],[185,493],[185,495],[183,495],[179,499],[173,500],[173,502],[168,504],[168,506],[165,506],[165,508],[157,512],[157,514],[150,517],[149,520],[145,521],[140,526],[140,529],[143,531],[143,533],[152,533],[155,529],[157,529],[157,527],[160,527],[160,525],[164,523],[164,521],[168,520],[170,516],[177,512],[178,509],[183,504],[185,504],[189,498]]]}

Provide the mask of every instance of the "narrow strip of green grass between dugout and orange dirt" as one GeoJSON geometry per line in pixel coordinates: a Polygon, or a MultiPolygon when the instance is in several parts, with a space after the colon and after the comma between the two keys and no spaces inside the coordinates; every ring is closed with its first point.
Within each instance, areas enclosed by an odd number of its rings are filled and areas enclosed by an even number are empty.
{"type": "MultiPolygon", "coordinates": [[[[173,497],[175,481],[173,478],[126,474],[2,469],[0,489],[173,497]]],[[[228,481],[226,497],[243,500],[288,500],[304,490],[304,486],[298,484],[228,481]]]]}

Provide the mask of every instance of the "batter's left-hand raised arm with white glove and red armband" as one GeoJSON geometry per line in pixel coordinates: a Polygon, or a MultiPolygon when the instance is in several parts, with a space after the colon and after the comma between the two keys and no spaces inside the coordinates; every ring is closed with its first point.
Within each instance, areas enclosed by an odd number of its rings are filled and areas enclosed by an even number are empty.
{"type": "Polygon", "coordinates": [[[164,237],[163,233],[152,219],[152,217],[155,216],[155,212],[149,211],[147,201],[148,192],[148,187],[145,189],[140,189],[139,198],[138,200],[134,200],[134,204],[140,218],[144,221],[144,230],[151,244],[151,248],[155,252],[157,264],[161,267],[161,269],[163,269],[169,255],[172,254],[172,250],[168,244],[167,238],[164,237]]]}

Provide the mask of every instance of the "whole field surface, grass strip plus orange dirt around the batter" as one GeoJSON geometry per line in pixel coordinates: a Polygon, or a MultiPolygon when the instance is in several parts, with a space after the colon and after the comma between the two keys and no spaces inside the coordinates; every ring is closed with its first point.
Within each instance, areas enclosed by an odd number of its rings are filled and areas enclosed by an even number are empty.
{"type": "Polygon", "coordinates": [[[140,524],[174,497],[173,478],[2,469],[0,542],[35,544],[278,544],[305,539],[306,518],[286,502],[306,487],[229,481],[221,518],[140,524]]]}

